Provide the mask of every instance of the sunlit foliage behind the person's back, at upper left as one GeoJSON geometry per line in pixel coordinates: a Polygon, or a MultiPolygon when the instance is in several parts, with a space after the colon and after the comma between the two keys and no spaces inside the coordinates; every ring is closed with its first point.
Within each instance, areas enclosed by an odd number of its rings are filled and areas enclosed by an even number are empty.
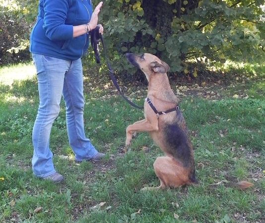
{"type": "MultiPolygon", "coordinates": [[[[36,5],[37,0],[35,0],[36,5]]],[[[29,23],[37,10],[29,0],[0,0],[0,65],[30,59],[29,23]],[[33,10],[32,10],[33,9],[33,10]]]]}

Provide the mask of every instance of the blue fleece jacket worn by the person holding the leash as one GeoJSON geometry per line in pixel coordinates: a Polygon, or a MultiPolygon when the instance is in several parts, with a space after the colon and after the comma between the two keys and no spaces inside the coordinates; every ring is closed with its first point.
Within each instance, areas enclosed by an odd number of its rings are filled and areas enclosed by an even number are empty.
{"type": "Polygon", "coordinates": [[[39,14],[30,35],[30,52],[76,60],[89,45],[89,35],[73,38],[73,26],[90,21],[91,0],[40,0],[39,14]]]}

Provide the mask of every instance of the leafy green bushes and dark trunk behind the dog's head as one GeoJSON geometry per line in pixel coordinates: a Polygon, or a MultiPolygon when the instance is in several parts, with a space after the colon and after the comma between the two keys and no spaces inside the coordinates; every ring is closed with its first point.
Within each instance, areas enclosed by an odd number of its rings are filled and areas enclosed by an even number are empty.
{"type": "MultiPolygon", "coordinates": [[[[95,3],[99,0],[95,1],[95,3]]],[[[106,0],[100,13],[113,68],[129,79],[136,72],[124,54],[155,54],[171,72],[188,61],[264,58],[262,0],[106,0]],[[128,75],[129,74],[129,75],[128,75]]],[[[190,72],[192,73],[192,72],[190,72]]],[[[135,76],[134,76],[135,78],[135,76]]],[[[137,77],[136,77],[137,80],[137,77]]]]}

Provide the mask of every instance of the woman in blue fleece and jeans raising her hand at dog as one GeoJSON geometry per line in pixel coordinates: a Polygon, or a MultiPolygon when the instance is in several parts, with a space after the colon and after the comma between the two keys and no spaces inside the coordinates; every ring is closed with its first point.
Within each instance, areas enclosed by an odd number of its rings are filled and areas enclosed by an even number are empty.
{"type": "MultiPolygon", "coordinates": [[[[100,161],[85,137],[83,122],[83,73],[81,57],[89,45],[89,31],[96,28],[100,2],[92,13],[91,0],[40,0],[37,22],[30,36],[30,52],[37,70],[40,104],[34,123],[32,168],[35,176],[63,181],[56,172],[49,148],[52,124],[66,103],[66,126],[75,161],[100,161]]],[[[102,25],[99,33],[103,33],[102,25]]]]}

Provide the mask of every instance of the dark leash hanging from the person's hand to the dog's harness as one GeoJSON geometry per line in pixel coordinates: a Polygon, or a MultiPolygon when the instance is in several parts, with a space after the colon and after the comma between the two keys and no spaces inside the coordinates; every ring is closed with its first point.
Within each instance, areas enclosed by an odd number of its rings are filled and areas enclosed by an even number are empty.
{"type": "Polygon", "coordinates": [[[137,109],[143,109],[143,107],[139,107],[137,105],[135,105],[132,101],[130,101],[121,91],[120,87],[119,87],[119,84],[117,83],[114,75],[113,75],[113,69],[111,67],[111,64],[109,62],[109,59],[108,59],[108,56],[107,56],[107,51],[106,51],[106,48],[105,48],[105,43],[104,43],[104,39],[102,37],[102,34],[98,32],[99,30],[99,27],[97,26],[95,29],[91,30],[90,31],[90,37],[91,37],[91,46],[94,50],[94,53],[95,53],[95,57],[96,57],[96,62],[97,63],[100,63],[100,56],[99,56],[99,48],[98,48],[98,45],[99,45],[99,40],[101,40],[101,43],[102,43],[102,47],[104,49],[104,52],[105,52],[105,57],[106,57],[106,61],[107,61],[107,64],[108,64],[108,68],[109,68],[109,72],[110,72],[110,77],[112,79],[112,82],[114,84],[114,86],[117,88],[117,90],[120,92],[120,94],[123,96],[123,98],[131,105],[133,106],[134,108],[137,108],[137,109]]]}

